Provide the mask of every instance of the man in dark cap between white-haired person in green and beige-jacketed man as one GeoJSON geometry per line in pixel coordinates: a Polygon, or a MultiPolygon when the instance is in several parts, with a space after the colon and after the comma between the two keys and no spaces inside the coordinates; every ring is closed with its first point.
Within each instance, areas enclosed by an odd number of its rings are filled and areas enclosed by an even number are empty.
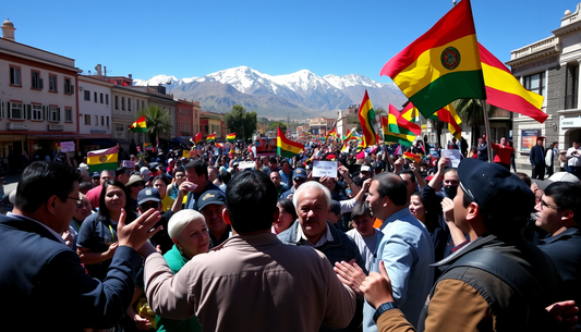
{"type": "Polygon", "coordinates": [[[222,211],[226,209],[226,197],[221,190],[208,190],[197,201],[197,207],[208,225],[210,248],[220,245],[232,236],[232,230],[223,221],[222,211]]]}

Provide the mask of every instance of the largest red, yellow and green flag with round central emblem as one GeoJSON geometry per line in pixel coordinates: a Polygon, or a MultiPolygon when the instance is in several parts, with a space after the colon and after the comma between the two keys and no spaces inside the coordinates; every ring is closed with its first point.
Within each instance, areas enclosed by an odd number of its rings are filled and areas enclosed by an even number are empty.
{"type": "Polygon", "coordinates": [[[462,0],[382,69],[428,118],[459,98],[486,99],[470,0],[462,0]]]}

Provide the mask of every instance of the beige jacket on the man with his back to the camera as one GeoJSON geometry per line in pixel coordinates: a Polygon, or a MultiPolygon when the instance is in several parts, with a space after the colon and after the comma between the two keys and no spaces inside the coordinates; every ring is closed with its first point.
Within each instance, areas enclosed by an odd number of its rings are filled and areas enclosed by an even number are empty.
{"type": "Polygon", "coordinates": [[[196,315],[209,331],[318,331],[349,324],[355,294],[322,253],[271,233],[235,235],[195,256],[175,275],[160,254],[145,261],[149,306],[159,316],[196,315]]]}

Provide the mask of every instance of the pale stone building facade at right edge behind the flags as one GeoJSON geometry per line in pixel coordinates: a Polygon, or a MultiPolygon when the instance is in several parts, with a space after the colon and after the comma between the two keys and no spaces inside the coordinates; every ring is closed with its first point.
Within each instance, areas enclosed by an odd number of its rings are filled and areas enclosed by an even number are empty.
{"type": "Polygon", "coordinates": [[[567,10],[560,27],[553,36],[521,47],[507,62],[522,85],[545,97],[544,123],[515,114],[513,138],[518,169],[530,169],[529,153],[536,136],[546,137],[546,146],[559,143],[569,148],[581,139],[581,104],[579,103],[579,63],[581,62],[581,3],[574,12],[567,10]]]}

